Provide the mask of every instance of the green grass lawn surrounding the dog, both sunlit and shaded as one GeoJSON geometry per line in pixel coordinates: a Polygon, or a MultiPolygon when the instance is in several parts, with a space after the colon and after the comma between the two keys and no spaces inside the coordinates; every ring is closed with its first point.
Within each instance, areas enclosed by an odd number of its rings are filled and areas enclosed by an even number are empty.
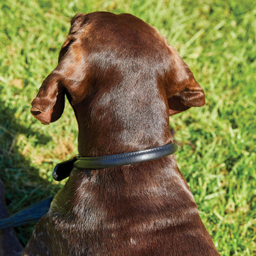
{"type": "MultiPolygon", "coordinates": [[[[157,27],[205,90],[207,104],[170,118],[177,163],[221,255],[256,255],[256,5],[251,0],[0,1],[0,178],[11,213],[63,183],[54,165],[76,154],[70,106],[42,126],[30,114],[57,64],[70,17],[130,12],[157,27]]],[[[68,104],[67,104],[68,105],[68,104]]],[[[33,225],[16,229],[25,244],[33,225]]]]}

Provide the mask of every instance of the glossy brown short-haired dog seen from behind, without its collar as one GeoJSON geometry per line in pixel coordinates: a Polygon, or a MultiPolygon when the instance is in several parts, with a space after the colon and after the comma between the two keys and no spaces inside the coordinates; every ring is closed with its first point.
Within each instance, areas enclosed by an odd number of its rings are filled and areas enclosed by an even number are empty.
{"type": "MultiPolygon", "coordinates": [[[[109,156],[173,141],[169,115],[203,106],[203,89],[157,29],[130,14],[77,14],[57,68],[31,112],[64,109],[79,124],[79,155],[109,156]]],[[[219,255],[174,156],[72,170],[23,255],[219,255]]]]}

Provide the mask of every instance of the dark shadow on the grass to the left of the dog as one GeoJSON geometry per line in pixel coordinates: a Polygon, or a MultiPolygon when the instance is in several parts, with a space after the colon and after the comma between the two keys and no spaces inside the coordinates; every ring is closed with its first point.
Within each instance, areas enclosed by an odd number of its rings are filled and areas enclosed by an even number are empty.
{"type": "MultiPolygon", "coordinates": [[[[55,195],[59,190],[59,185],[51,184],[42,179],[39,175],[40,167],[31,166],[31,162],[20,154],[16,145],[16,136],[24,134],[25,137],[35,135],[39,144],[45,144],[51,140],[42,134],[37,134],[33,130],[21,126],[15,119],[15,110],[4,107],[4,102],[0,100],[0,179],[5,185],[5,200],[10,214],[55,195]]],[[[27,244],[31,236],[35,223],[17,227],[18,239],[23,244],[27,244]]]]}

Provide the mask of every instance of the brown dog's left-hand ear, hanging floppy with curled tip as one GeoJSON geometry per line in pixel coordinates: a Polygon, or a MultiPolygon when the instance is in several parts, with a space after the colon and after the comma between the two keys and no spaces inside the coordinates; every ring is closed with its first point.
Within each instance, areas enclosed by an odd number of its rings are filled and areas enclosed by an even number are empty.
{"type": "Polygon", "coordinates": [[[31,113],[42,124],[50,124],[61,117],[64,105],[65,92],[61,86],[61,77],[53,71],[44,80],[33,100],[31,113]]]}

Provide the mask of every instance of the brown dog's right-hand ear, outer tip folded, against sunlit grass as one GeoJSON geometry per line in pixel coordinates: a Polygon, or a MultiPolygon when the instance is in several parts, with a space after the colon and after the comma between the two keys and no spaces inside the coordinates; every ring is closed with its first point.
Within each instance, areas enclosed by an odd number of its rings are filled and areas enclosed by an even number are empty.
{"type": "Polygon", "coordinates": [[[169,48],[171,50],[171,65],[167,73],[166,89],[169,115],[175,115],[191,106],[203,106],[205,94],[175,48],[172,46],[169,48]]]}

